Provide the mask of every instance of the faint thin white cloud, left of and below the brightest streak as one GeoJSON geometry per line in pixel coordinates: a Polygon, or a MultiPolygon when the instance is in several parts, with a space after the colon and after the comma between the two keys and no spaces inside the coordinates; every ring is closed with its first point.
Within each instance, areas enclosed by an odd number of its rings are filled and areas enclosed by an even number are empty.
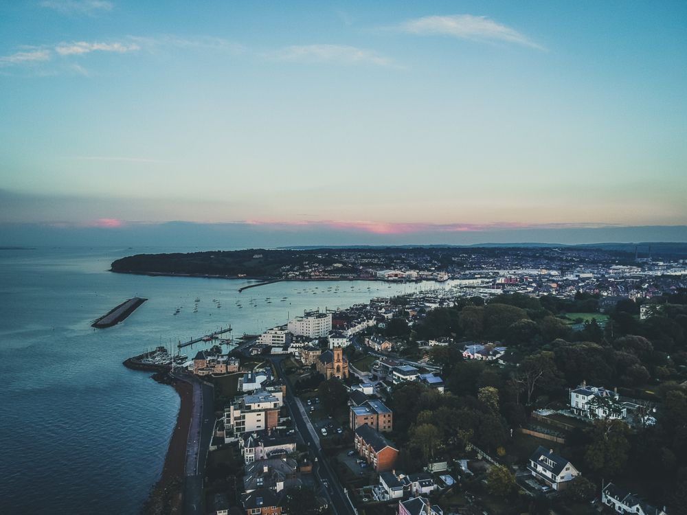
{"type": "Polygon", "coordinates": [[[335,62],[346,65],[396,67],[393,60],[372,50],[348,45],[300,45],[280,49],[274,54],[280,60],[293,62],[335,62]]]}

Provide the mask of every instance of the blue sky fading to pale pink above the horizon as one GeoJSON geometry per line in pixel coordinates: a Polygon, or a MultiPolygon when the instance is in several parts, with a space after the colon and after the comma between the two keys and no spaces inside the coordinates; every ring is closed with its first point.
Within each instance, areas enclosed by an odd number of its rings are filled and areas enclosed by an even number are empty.
{"type": "Polygon", "coordinates": [[[686,95],[684,1],[0,0],[0,245],[686,240],[686,95]]]}

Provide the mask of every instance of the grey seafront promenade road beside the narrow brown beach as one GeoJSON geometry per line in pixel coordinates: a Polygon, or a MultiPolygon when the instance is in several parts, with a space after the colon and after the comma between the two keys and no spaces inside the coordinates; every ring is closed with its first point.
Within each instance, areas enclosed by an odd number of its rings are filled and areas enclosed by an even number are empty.
{"type": "Polygon", "coordinates": [[[205,461],[214,426],[214,389],[191,374],[174,371],[172,377],[188,382],[193,387],[193,410],[186,442],[183,512],[185,515],[201,514],[205,461]]]}

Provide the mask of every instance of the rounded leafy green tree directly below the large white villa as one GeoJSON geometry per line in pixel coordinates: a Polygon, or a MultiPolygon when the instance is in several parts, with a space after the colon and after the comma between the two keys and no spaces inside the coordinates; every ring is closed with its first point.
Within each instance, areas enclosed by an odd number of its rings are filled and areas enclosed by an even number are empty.
{"type": "Polygon", "coordinates": [[[605,419],[594,422],[590,431],[592,443],[585,450],[589,468],[609,477],[627,463],[630,448],[629,427],[621,420],[605,419]]]}

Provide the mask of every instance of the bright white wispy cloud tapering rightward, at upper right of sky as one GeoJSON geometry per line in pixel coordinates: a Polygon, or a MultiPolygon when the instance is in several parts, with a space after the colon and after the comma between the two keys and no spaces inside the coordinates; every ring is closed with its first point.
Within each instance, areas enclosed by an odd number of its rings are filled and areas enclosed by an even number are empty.
{"type": "Polygon", "coordinates": [[[512,27],[497,23],[486,16],[453,14],[451,16],[424,16],[405,21],[399,30],[423,36],[440,35],[473,41],[503,41],[543,50],[544,48],[512,27]]]}

